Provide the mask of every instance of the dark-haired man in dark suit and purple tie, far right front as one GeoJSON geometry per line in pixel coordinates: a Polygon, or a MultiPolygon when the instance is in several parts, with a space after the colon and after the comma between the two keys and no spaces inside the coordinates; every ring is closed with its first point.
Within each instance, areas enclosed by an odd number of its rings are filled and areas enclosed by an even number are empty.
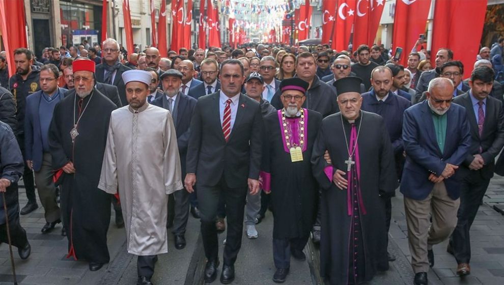
{"type": "Polygon", "coordinates": [[[459,170],[463,175],[460,208],[448,247],[457,260],[459,276],[471,273],[469,230],[493,177],[495,157],[504,146],[502,102],[489,96],[493,78],[493,69],[487,66],[474,69],[469,79],[471,89],[453,101],[465,107],[472,137],[471,150],[459,170]]]}

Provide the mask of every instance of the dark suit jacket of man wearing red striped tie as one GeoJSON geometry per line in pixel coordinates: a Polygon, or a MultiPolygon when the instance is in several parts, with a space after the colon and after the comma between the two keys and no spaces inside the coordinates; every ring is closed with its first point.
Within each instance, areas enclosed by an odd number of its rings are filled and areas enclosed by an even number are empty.
{"type": "Polygon", "coordinates": [[[219,112],[219,92],[200,97],[191,121],[187,173],[197,183],[215,186],[222,175],[231,188],[247,187],[259,179],[263,122],[257,101],[240,94],[236,120],[226,142],[219,112]]]}

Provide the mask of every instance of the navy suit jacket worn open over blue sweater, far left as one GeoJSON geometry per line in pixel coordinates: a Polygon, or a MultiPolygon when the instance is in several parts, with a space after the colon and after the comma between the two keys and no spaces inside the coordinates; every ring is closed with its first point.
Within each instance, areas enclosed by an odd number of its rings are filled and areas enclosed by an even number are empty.
{"type": "MultiPolygon", "coordinates": [[[[65,93],[68,91],[64,88],[59,88],[60,99],[65,98],[65,93]]],[[[42,90],[26,97],[26,113],[24,118],[24,150],[26,152],[25,159],[33,161],[33,169],[40,170],[42,166],[42,156],[44,154],[42,146],[42,131],[40,127],[39,105],[42,99],[42,90]]],[[[53,99],[54,100],[54,99],[53,99]]]]}

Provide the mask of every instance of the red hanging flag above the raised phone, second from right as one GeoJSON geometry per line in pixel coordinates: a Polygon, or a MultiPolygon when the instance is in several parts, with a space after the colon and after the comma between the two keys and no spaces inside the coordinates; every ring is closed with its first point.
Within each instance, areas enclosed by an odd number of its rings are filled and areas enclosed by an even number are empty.
{"type": "MultiPolygon", "coordinates": [[[[444,1],[442,0],[441,2],[444,1]]],[[[403,48],[403,54],[399,59],[401,65],[406,66],[408,61],[407,54],[413,49],[419,35],[425,34],[430,7],[431,0],[398,0],[396,2],[392,44],[394,48],[403,48]]],[[[436,22],[435,25],[437,25],[436,22]]]]}

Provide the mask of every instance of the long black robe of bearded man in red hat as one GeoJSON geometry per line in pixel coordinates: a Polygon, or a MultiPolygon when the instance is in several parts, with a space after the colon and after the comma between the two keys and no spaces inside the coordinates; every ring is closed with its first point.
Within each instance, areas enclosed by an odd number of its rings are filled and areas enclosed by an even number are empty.
{"type": "Polygon", "coordinates": [[[110,194],[98,189],[110,113],[116,105],[96,89],[83,99],[74,143],[70,131],[79,117],[79,97],[65,97],[54,108],[49,128],[52,166],[60,174],[61,208],[67,229],[68,257],[107,263],[110,194]],[[75,110],[75,111],[74,111],[75,110]],[[75,116],[75,117],[74,117],[75,116]],[[74,174],[62,172],[73,162],[74,174]],[[60,171],[58,171],[60,170],[60,171]]]}

